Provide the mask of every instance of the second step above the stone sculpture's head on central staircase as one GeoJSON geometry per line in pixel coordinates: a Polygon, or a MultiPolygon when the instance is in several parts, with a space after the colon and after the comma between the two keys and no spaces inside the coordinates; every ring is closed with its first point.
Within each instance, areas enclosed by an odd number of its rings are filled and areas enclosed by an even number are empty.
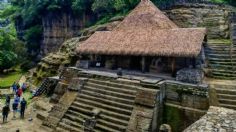
{"type": "Polygon", "coordinates": [[[86,95],[86,94],[80,94],[78,100],[80,100],[80,98],[82,99],[86,99],[89,101],[97,101],[99,103],[102,103],[104,105],[109,105],[109,106],[113,106],[113,107],[117,107],[117,108],[122,108],[122,109],[126,109],[126,110],[133,110],[133,106],[132,105],[127,105],[124,103],[119,103],[119,102],[115,102],[109,99],[105,99],[100,97],[95,97],[95,96],[91,96],[91,95],[86,95]]]}

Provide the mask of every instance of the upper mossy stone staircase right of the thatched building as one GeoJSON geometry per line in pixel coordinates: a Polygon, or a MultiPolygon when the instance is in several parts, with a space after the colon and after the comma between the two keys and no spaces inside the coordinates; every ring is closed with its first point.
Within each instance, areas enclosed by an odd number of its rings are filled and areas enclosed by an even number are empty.
{"type": "Polygon", "coordinates": [[[208,61],[209,77],[217,79],[236,79],[236,47],[231,41],[209,41],[205,54],[208,61]]]}

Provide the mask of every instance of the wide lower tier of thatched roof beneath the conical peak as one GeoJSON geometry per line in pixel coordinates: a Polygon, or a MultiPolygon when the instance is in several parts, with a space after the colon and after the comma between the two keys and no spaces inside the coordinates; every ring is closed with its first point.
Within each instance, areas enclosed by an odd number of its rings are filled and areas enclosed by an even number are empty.
{"type": "Polygon", "coordinates": [[[96,32],[78,53],[195,57],[201,51],[205,29],[168,29],[96,32]]]}

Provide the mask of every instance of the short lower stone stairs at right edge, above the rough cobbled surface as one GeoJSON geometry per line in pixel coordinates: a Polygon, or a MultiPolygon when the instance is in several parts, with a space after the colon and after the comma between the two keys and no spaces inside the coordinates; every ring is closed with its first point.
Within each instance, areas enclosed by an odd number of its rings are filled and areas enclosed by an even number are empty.
{"type": "Polygon", "coordinates": [[[236,110],[236,85],[235,84],[214,84],[219,106],[236,110]]]}

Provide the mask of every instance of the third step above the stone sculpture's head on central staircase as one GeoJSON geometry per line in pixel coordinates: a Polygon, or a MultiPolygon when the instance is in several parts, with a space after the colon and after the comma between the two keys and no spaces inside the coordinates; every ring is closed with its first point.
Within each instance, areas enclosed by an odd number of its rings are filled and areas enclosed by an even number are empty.
{"type": "Polygon", "coordinates": [[[100,97],[100,98],[103,98],[103,99],[111,100],[111,101],[116,101],[116,102],[119,102],[119,103],[134,105],[134,101],[132,101],[132,100],[119,98],[119,97],[115,97],[115,96],[110,96],[110,95],[107,95],[107,94],[102,94],[102,93],[97,93],[97,92],[91,92],[91,91],[87,91],[86,89],[83,89],[82,93],[84,93],[86,95],[94,96],[94,97],[100,97]]]}

